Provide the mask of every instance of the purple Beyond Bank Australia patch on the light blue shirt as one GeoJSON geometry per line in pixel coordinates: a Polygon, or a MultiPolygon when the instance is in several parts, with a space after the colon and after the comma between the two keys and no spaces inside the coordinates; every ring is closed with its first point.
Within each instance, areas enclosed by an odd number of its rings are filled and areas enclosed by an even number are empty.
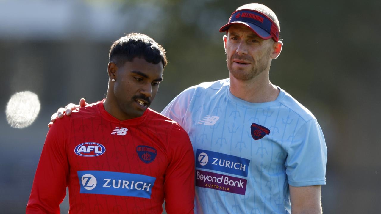
{"type": "Polygon", "coordinates": [[[247,180],[214,172],[196,170],[196,186],[245,195],[247,180]]]}

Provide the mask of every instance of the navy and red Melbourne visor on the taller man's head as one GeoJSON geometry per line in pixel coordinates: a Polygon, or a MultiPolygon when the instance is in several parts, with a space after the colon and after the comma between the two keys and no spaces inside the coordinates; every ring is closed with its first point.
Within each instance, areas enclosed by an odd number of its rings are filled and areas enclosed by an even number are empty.
{"type": "Polygon", "coordinates": [[[259,37],[263,39],[272,38],[275,42],[279,40],[279,30],[277,25],[265,14],[256,10],[237,10],[230,16],[229,22],[219,29],[225,32],[232,24],[243,24],[250,27],[259,37]]]}

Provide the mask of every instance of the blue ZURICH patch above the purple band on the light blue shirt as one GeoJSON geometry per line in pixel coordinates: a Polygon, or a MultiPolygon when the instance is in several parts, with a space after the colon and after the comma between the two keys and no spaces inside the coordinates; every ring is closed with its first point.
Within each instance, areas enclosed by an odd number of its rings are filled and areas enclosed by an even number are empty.
{"type": "Polygon", "coordinates": [[[197,149],[196,167],[247,177],[250,160],[219,152],[197,149]]]}

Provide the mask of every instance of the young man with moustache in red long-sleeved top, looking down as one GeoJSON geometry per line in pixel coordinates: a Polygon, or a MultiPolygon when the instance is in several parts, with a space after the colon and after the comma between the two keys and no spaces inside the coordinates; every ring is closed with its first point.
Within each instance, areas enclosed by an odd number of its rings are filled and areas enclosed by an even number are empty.
{"type": "Polygon", "coordinates": [[[152,38],[128,34],[109,54],[106,99],[51,126],[26,213],[193,213],[194,153],[175,121],[149,109],[166,65],[152,38]]]}

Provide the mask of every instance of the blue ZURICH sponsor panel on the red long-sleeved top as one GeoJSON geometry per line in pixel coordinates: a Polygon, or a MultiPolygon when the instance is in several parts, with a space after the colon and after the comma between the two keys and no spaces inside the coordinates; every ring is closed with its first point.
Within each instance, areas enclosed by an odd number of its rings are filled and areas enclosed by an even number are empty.
{"type": "Polygon", "coordinates": [[[77,171],[80,193],[151,198],[156,178],[108,171],[77,171]]]}

